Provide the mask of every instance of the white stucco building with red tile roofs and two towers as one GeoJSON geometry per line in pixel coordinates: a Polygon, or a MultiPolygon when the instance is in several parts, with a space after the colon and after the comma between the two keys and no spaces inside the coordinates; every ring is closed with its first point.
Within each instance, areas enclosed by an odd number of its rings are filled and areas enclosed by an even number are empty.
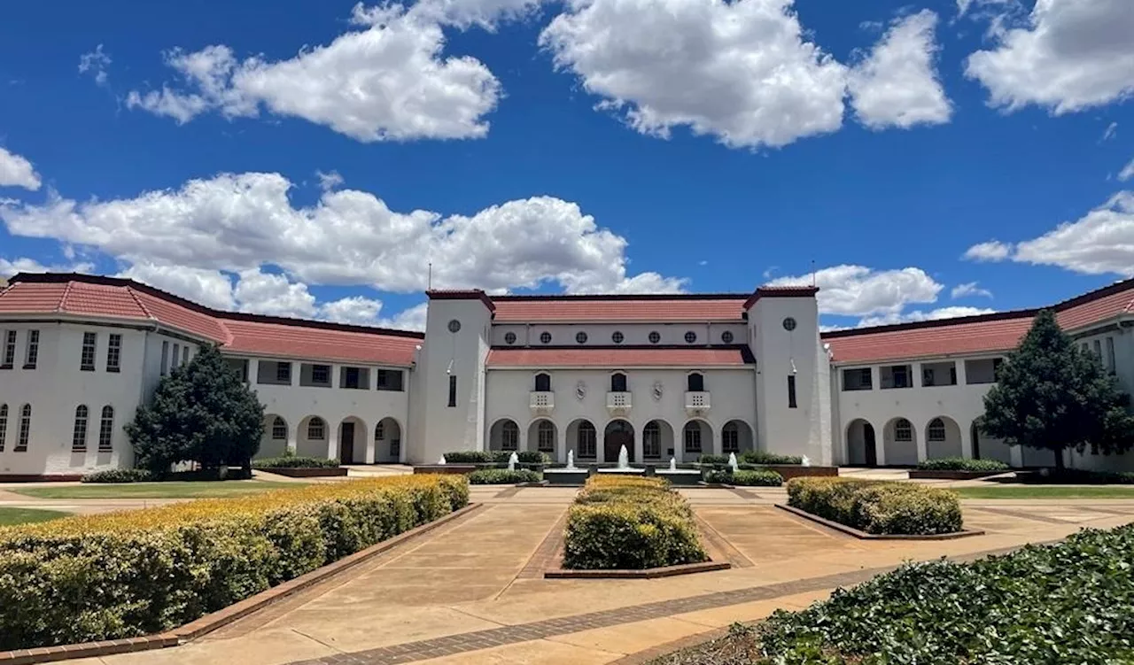
{"type": "MultiPolygon", "coordinates": [[[[431,291],[424,333],[214,310],[116,278],[0,291],[0,479],[130,466],[122,426],[220,344],[265,407],[262,457],[428,463],[452,450],[668,463],[750,449],[816,464],[1051,463],[979,434],[995,367],[1035,315],[820,334],[814,288],[683,296],[431,291]]],[[[1134,281],[1055,305],[1134,387],[1134,281]]],[[[1129,455],[1086,455],[1126,468],[1129,455]]]]}

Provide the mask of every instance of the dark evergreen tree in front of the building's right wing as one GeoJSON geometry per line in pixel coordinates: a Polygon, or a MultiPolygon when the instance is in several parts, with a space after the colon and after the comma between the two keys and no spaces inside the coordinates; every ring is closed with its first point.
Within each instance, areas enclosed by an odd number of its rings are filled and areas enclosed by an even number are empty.
{"type": "Polygon", "coordinates": [[[1055,314],[1043,310],[984,395],[981,429],[1012,445],[1051,450],[1061,469],[1065,450],[1129,450],[1134,417],[1127,401],[1099,359],[1078,349],[1055,314]]]}

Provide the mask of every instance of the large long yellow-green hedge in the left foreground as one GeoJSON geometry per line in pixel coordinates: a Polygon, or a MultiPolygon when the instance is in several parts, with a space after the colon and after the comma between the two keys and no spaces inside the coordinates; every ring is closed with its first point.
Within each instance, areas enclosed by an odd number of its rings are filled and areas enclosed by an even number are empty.
{"type": "Polygon", "coordinates": [[[0,528],[0,650],[168,630],[467,503],[401,476],[0,528]]]}

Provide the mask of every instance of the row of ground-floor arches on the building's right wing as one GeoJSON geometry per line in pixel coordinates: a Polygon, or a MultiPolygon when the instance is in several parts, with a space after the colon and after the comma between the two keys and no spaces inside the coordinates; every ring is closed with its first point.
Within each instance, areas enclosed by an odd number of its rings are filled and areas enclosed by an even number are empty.
{"type": "MultiPolygon", "coordinates": [[[[925,459],[965,457],[966,443],[960,425],[948,416],[930,418],[921,428],[908,418],[891,418],[882,426],[881,446],[874,426],[864,418],[855,418],[847,424],[846,442],[846,462],[866,467],[912,467],[925,459]]],[[[968,444],[974,459],[999,460],[1016,466],[1044,463],[1040,459],[1042,451],[1019,451],[1014,459],[1012,446],[981,432],[980,418],[968,426],[968,444]]]]}

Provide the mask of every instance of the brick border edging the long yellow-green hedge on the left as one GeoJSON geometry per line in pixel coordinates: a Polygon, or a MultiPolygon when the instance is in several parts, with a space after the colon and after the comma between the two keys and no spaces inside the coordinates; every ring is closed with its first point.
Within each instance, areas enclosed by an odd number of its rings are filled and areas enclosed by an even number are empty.
{"type": "Polygon", "coordinates": [[[31,665],[33,663],[56,663],[69,660],[71,658],[92,658],[96,656],[111,656],[128,651],[149,651],[152,649],[164,649],[176,647],[189,640],[194,640],[203,634],[210,633],[219,628],[228,625],[239,619],[295,595],[313,585],[316,585],[335,574],[364,563],[374,556],[382,554],[398,545],[432,531],[433,529],[448,523],[457,518],[467,515],[483,508],[483,503],[469,503],[465,508],[455,510],[447,515],[442,515],[432,522],[414,527],[404,534],[398,534],[392,538],[387,538],[381,543],[375,543],[365,549],[361,549],[344,556],[338,561],[332,561],[327,565],[304,573],[293,580],[279,583],[270,589],[239,600],[204,616],[191,621],[178,628],[158,634],[144,636],[141,638],[127,638],[120,640],[102,640],[98,642],[84,642],[78,645],[60,645],[58,647],[35,647],[31,649],[16,649],[14,651],[0,651],[0,665],[31,665]]]}

